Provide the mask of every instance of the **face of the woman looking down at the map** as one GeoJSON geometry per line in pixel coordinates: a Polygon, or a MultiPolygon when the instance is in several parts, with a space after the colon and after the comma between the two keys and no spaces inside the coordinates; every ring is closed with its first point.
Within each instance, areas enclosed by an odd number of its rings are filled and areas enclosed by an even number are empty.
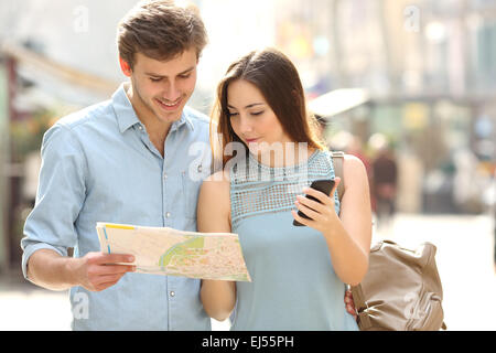
{"type": "Polygon", "coordinates": [[[267,153],[292,142],[278,117],[254,84],[236,79],[227,87],[227,108],[235,133],[251,153],[267,153]]]}

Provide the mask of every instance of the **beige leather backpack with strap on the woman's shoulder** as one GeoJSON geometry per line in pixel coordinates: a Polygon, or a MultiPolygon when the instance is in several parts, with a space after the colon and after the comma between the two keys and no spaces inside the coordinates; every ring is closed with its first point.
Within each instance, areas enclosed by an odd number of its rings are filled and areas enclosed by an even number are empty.
{"type": "MultiPolygon", "coordinates": [[[[335,173],[344,188],[343,152],[333,152],[335,173]]],[[[352,287],[362,331],[439,331],[443,322],[443,290],[435,265],[435,246],[407,249],[391,240],[370,248],[363,281],[352,287]]]]}

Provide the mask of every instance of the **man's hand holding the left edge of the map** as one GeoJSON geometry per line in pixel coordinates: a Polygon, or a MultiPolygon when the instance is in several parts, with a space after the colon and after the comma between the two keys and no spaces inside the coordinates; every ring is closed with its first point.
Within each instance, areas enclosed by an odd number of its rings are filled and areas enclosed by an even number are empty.
{"type": "Polygon", "coordinates": [[[89,291],[101,291],[116,285],[127,272],[136,270],[132,265],[115,264],[133,261],[132,255],[88,253],[76,260],[76,281],[89,291]]]}

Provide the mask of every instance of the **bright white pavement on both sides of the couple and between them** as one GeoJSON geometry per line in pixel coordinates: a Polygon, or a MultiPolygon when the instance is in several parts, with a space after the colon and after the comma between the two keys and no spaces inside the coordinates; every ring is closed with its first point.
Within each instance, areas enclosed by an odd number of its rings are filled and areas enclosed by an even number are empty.
{"type": "MultiPolygon", "coordinates": [[[[398,215],[390,232],[374,234],[374,240],[390,238],[403,246],[431,242],[438,247],[436,263],[443,282],[444,321],[449,330],[496,330],[493,264],[493,221],[487,216],[398,215]],[[482,299],[482,300],[481,300],[482,299]]],[[[0,278],[0,330],[69,330],[68,293],[37,288],[20,278],[0,278]]],[[[228,330],[228,322],[213,321],[213,330],[228,330]]]]}

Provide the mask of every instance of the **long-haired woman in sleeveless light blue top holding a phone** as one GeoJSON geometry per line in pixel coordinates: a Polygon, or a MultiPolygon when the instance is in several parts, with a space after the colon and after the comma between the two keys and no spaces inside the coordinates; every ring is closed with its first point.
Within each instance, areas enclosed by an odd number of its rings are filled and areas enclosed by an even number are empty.
{"type": "Polygon", "coordinates": [[[371,214],[363,163],[345,157],[339,204],[339,179],[306,115],[298,72],[272,49],[230,65],[213,121],[237,154],[224,153],[224,171],[203,183],[197,226],[239,235],[252,282],[203,280],[205,311],[225,320],[236,307],[231,330],[358,330],[343,297],[345,284],[360,282],[368,267],[371,214]],[[317,179],[335,179],[332,196],[304,189],[317,179]]]}

